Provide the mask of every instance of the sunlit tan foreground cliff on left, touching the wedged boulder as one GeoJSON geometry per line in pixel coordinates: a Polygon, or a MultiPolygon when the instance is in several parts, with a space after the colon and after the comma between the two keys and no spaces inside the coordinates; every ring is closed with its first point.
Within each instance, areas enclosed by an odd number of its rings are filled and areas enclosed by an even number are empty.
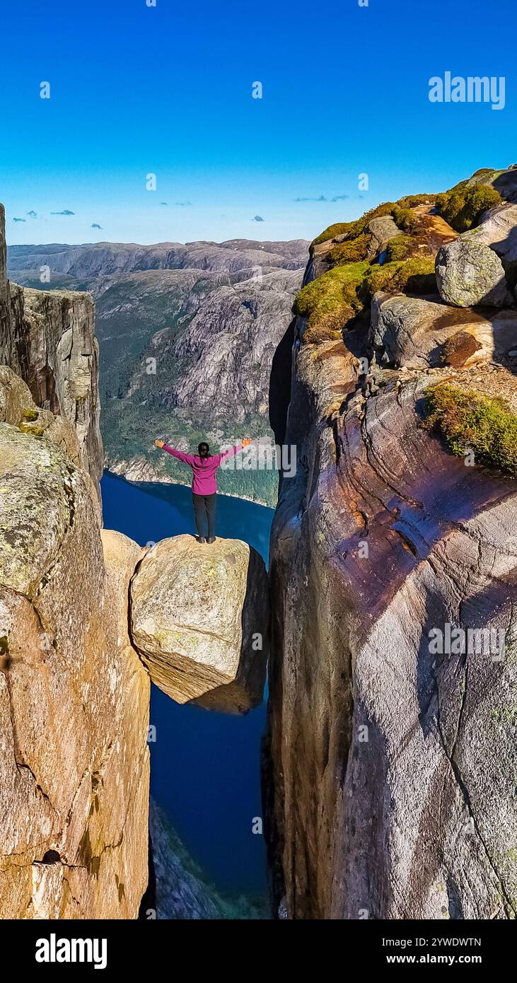
{"type": "MultiPolygon", "coordinates": [[[[27,391],[15,399],[8,382],[16,423],[27,391]]],[[[0,915],[135,918],[149,683],[128,589],[141,550],[101,540],[91,479],[50,427],[1,423],[0,473],[0,915]]]]}

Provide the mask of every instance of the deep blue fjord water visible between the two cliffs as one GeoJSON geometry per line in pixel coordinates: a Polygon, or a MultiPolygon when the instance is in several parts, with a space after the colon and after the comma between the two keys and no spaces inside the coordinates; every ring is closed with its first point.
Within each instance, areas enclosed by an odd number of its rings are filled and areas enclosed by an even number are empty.
{"type": "MultiPolygon", "coordinates": [[[[182,485],[132,485],[106,473],[101,482],[106,529],[141,546],[193,533],[192,492],[182,485]]],[[[217,496],[216,534],[241,539],[267,562],[273,510],[242,498],[217,496]]],[[[209,546],[206,547],[209,549],[209,546]]],[[[181,707],[151,686],[151,795],[220,892],[265,892],[259,744],[265,704],[245,717],[181,707]]]]}

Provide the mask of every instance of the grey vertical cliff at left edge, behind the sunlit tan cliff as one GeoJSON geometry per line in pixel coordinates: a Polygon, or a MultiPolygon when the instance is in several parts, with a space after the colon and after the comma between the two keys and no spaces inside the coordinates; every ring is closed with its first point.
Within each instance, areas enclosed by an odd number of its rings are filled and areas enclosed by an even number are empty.
{"type": "Polygon", "coordinates": [[[9,284],[0,215],[0,363],[29,385],[35,404],[68,420],[83,466],[98,483],[103,468],[98,345],[86,293],[29,290],[9,284]]]}

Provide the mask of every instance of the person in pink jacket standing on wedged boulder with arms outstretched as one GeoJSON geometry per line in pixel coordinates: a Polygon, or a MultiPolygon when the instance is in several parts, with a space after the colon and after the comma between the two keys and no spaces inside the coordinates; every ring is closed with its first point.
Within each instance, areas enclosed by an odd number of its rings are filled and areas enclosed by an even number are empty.
{"type": "Polygon", "coordinates": [[[184,454],[182,450],[169,447],[163,440],[155,440],[154,443],[168,454],[177,457],[179,461],[188,464],[193,472],[192,481],[192,502],[194,505],[194,518],[196,519],[196,529],[198,530],[199,543],[215,543],[213,535],[215,521],[215,496],[217,494],[217,482],[215,472],[221,462],[236,454],[242,447],[247,447],[252,441],[246,437],[241,443],[236,444],[231,450],[226,450],[224,454],[210,454],[210,448],[204,441],[198,445],[198,454],[184,454]],[[204,524],[208,525],[208,536],[204,538],[204,524]]]}

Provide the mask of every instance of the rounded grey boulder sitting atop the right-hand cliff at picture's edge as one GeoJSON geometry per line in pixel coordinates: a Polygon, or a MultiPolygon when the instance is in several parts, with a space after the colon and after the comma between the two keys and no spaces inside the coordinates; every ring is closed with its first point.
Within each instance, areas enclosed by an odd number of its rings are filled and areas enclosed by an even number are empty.
{"type": "Polygon", "coordinates": [[[442,246],[436,255],[439,295],[455,307],[511,307],[515,299],[504,267],[490,246],[466,233],[442,246]]]}

